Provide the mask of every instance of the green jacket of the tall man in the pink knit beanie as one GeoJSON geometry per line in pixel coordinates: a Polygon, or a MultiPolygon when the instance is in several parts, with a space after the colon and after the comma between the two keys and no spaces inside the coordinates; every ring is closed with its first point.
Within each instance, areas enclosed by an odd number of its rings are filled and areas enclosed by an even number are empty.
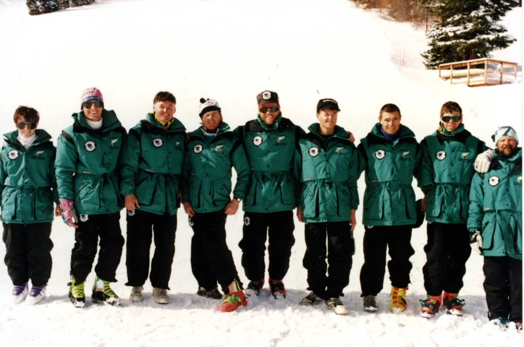
{"type": "Polygon", "coordinates": [[[102,111],[101,129],[92,129],[84,113],[72,115],[74,123],[58,138],[54,163],[58,196],[74,200],[79,214],[111,214],[122,210],[118,196],[118,154],[126,129],[114,111],[102,111]]]}

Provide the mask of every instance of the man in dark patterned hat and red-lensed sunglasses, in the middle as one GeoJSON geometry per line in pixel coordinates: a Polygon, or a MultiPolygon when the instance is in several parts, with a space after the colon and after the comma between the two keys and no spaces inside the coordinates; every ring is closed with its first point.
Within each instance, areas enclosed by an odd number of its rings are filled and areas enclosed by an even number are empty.
{"type": "Polygon", "coordinates": [[[244,144],[252,183],[243,201],[242,266],[249,284],[246,296],[259,295],[265,282],[266,238],[269,234],[269,288],[275,297],[286,296],[282,279],[289,269],[294,245],[293,209],[296,207],[292,161],[299,126],[280,111],[278,94],[257,95],[258,117],[235,129],[244,144]]]}

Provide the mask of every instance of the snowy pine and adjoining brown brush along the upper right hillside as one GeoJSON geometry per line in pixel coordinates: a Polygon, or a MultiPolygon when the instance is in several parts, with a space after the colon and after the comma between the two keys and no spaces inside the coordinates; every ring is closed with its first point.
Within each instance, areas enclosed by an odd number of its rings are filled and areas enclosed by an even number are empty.
{"type": "Polygon", "coordinates": [[[429,49],[422,53],[427,69],[453,61],[490,58],[515,38],[498,22],[521,7],[522,0],[351,0],[363,8],[383,9],[392,20],[429,23],[429,49]]]}

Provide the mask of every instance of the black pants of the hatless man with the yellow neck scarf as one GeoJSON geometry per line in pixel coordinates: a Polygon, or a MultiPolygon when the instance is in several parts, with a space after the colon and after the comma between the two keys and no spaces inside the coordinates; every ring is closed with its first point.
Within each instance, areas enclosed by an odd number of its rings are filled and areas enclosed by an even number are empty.
{"type": "Polygon", "coordinates": [[[169,289],[177,215],[154,214],[138,209],[134,212],[127,211],[126,218],[126,286],[140,287],[146,283],[152,238],[155,241],[155,253],[151,260],[149,280],[153,288],[169,289]]]}

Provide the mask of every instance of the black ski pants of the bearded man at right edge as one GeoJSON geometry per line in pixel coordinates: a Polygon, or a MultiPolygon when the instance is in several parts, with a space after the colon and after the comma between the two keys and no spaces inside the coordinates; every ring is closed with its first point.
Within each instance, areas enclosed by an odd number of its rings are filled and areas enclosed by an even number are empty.
{"type": "Polygon", "coordinates": [[[483,270],[488,318],[522,323],[522,260],[485,256],[483,270]]]}

